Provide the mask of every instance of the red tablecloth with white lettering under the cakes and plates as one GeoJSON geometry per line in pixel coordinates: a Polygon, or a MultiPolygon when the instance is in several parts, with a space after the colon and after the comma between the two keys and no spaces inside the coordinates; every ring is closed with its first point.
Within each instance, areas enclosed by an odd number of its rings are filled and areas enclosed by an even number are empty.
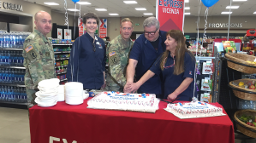
{"type": "Polygon", "coordinates": [[[29,109],[31,143],[235,142],[228,116],[180,119],[164,111],[167,103],[162,101],[156,113],[87,109],[86,103],[33,106],[29,109]]]}

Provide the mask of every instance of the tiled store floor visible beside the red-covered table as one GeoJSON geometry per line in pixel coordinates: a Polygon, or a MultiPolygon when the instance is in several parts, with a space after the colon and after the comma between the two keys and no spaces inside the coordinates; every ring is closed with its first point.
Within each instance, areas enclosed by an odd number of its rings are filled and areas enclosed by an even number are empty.
{"type": "MultiPolygon", "coordinates": [[[[241,136],[235,134],[235,138],[241,136]]],[[[30,143],[27,110],[0,107],[0,143],[30,143]]],[[[235,143],[256,143],[256,139],[246,142],[235,139],[235,143]]]]}

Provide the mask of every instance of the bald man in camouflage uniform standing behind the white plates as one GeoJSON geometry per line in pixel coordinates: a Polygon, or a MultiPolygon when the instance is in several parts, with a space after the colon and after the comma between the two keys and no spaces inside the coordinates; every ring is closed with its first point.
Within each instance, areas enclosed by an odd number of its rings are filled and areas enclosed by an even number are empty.
{"type": "Polygon", "coordinates": [[[27,89],[27,107],[36,103],[35,93],[39,91],[38,83],[44,79],[56,78],[54,52],[46,35],[51,31],[51,15],[39,11],[34,15],[35,30],[23,44],[24,63],[26,67],[25,85],[27,89]]]}

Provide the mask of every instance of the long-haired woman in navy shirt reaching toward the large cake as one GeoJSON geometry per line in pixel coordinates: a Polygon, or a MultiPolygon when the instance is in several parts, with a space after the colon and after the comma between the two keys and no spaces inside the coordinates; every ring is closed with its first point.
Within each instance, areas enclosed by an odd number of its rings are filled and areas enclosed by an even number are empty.
{"type": "Polygon", "coordinates": [[[166,51],[152,65],[137,83],[128,90],[136,91],[155,74],[162,73],[164,98],[167,100],[191,100],[194,89],[195,58],[186,48],[182,31],[170,30],[166,34],[166,51]]]}

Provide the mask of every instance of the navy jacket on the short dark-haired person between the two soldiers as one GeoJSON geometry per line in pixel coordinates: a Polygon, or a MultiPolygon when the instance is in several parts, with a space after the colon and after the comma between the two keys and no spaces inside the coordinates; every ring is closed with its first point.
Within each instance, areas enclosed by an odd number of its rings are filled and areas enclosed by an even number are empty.
{"type": "Polygon", "coordinates": [[[105,52],[104,41],[100,37],[95,36],[94,43],[87,32],[76,38],[68,60],[68,82],[83,83],[84,89],[100,89],[104,84],[105,52]]]}

